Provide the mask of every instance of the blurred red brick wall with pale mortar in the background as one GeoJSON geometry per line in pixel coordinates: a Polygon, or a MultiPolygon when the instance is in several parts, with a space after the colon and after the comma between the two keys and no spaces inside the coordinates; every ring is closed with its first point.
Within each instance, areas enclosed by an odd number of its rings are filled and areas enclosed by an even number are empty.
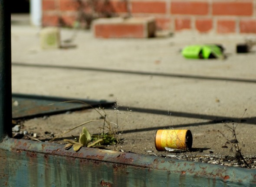
{"type": "Polygon", "coordinates": [[[43,0],[43,26],[128,15],[154,16],[158,30],[256,34],[256,0],[43,0]]]}

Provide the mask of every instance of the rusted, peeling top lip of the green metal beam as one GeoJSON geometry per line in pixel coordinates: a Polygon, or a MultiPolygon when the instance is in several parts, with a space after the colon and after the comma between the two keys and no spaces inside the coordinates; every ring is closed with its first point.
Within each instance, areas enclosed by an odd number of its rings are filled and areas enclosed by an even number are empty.
{"type": "Polygon", "coordinates": [[[66,150],[64,145],[57,143],[13,139],[8,136],[0,143],[0,149],[13,153],[22,151],[35,152],[45,155],[87,159],[111,164],[132,165],[149,170],[176,173],[180,176],[192,176],[194,178],[196,177],[197,180],[198,177],[203,180],[219,180],[224,184],[228,184],[228,186],[256,185],[256,170],[246,168],[226,167],[85,147],[82,147],[79,152],[74,152],[72,149],[66,150]]]}

